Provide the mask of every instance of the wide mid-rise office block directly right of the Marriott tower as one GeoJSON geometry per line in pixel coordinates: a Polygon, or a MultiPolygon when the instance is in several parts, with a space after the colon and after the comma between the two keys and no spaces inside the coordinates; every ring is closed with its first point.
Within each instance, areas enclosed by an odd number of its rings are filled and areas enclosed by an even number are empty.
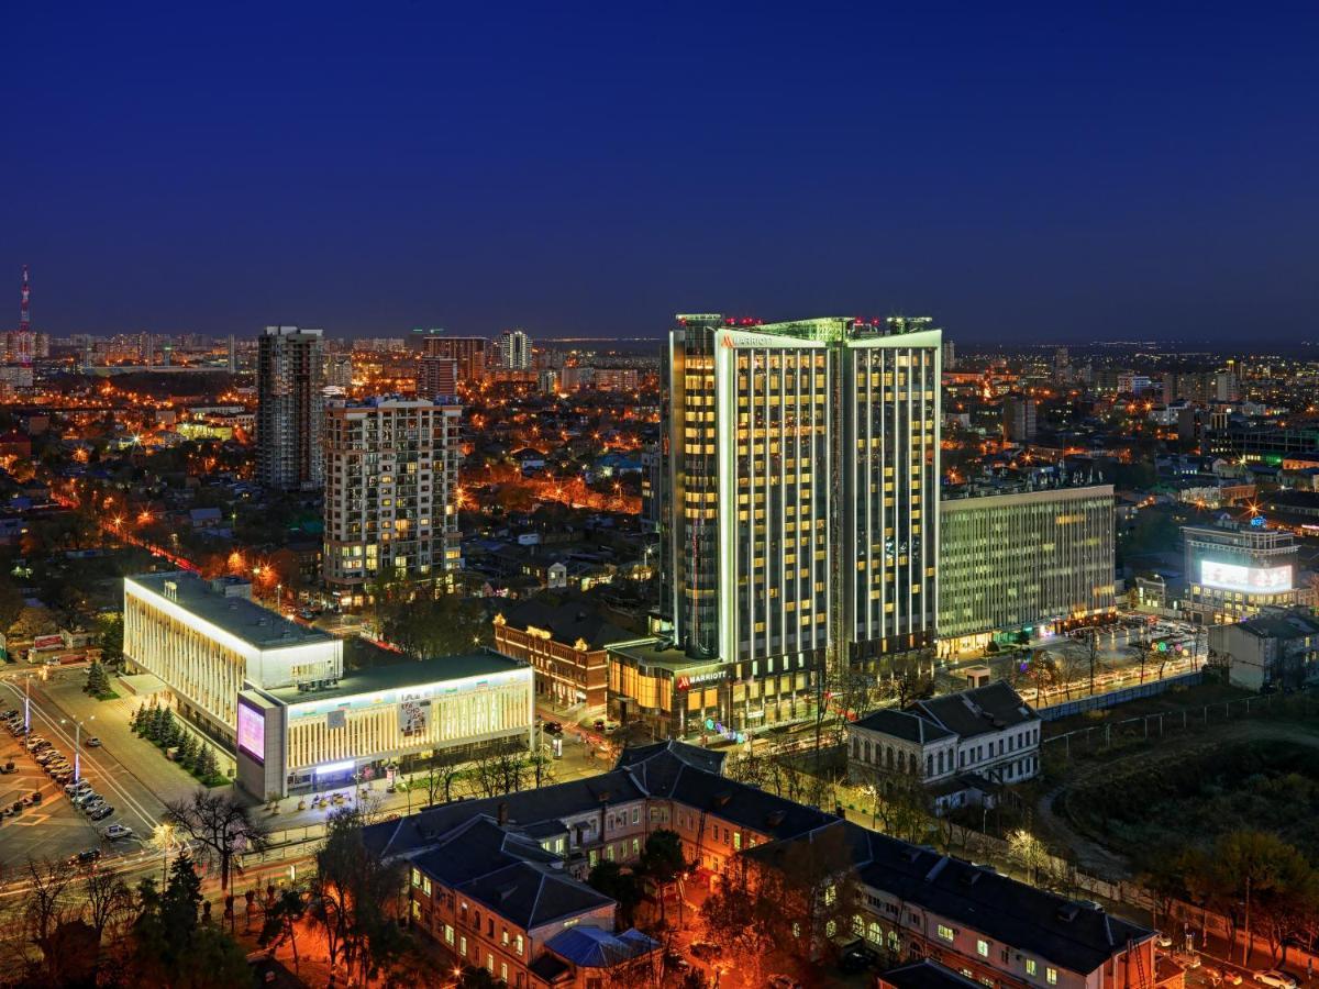
{"type": "Polygon", "coordinates": [[[1113,485],[939,505],[939,650],[1116,608],[1113,485]]]}

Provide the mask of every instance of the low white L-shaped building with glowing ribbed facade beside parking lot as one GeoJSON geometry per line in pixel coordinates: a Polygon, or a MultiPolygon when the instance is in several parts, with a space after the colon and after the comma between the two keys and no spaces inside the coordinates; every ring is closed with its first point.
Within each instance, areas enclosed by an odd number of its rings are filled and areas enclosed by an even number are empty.
{"type": "Polygon", "coordinates": [[[495,653],[344,671],[343,641],[235,578],[125,578],[124,657],[236,756],[253,796],[343,786],[431,753],[532,744],[532,667],[495,653]]]}

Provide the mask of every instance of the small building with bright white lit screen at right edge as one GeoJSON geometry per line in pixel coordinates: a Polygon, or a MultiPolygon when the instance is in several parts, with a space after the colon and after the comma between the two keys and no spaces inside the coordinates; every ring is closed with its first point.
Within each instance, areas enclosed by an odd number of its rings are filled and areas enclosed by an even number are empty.
{"type": "Polygon", "coordinates": [[[1182,526],[1191,621],[1219,625],[1257,614],[1261,608],[1297,604],[1301,543],[1262,516],[1249,524],[1182,526]]]}

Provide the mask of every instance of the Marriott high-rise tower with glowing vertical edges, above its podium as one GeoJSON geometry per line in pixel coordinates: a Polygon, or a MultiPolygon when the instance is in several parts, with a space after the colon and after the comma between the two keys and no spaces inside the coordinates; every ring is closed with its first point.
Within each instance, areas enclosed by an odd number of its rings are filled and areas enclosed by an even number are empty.
{"type": "Polygon", "coordinates": [[[665,607],[692,659],[878,667],[933,645],[940,331],[679,316],[665,607]]]}

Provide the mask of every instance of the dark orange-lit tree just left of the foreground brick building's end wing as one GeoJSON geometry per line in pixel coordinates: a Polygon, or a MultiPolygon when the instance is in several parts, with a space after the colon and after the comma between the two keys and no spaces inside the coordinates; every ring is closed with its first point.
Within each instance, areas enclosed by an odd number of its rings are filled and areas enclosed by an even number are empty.
{"type": "Polygon", "coordinates": [[[394,918],[404,894],[404,866],[367,848],[365,824],[359,808],[330,812],[307,906],[307,915],[324,934],[331,967],[342,957],[361,982],[400,957],[408,944],[394,918]]]}

